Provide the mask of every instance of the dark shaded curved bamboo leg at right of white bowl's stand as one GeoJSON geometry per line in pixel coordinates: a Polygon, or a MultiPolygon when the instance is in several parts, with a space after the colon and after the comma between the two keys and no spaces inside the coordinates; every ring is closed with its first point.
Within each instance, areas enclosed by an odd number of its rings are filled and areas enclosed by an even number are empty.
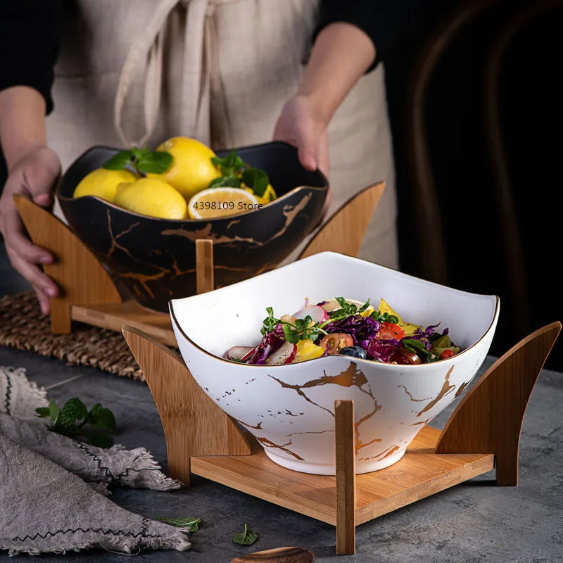
{"type": "Polygon", "coordinates": [[[436,453],[494,453],[497,484],[517,485],[522,419],[560,330],[548,324],[499,358],[457,405],[436,453]]]}

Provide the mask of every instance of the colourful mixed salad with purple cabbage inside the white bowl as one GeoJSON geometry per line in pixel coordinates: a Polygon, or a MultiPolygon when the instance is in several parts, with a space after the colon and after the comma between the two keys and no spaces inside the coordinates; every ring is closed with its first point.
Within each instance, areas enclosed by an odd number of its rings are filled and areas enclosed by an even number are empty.
{"type": "Polygon", "coordinates": [[[362,303],[343,297],[308,305],[293,315],[274,316],[271,307],[262,322],[257,346],[233,346],[225,358],[253,365],[284,365],[341,354],[387,364],[417,365],[452,358],[460,348],[447,327],[422,327],[403,322],[381,299],[374,310],[369,299],[362,303]]]}

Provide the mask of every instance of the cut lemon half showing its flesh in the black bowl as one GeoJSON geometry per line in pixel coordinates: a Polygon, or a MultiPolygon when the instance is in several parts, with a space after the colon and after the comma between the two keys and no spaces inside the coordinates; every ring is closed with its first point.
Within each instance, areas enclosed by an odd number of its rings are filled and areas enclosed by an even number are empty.
{"type": "Polygon", "coordinates": [[[244,213],[262,207],[253,194],[241,188],[209,188],[199,191],[188,203],[191,219],[210,219],[244,213]]]}

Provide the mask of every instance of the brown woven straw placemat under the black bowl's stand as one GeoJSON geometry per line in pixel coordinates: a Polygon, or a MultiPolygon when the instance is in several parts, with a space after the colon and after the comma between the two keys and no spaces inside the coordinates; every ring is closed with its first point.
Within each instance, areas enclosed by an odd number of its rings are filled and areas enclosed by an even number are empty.
{"type": "Polygon", "coordinates": [[[52,334],[32,291],[0,297],[0,346],[145,380],[120,333],[73,322],[70,334],[52,334]]]}

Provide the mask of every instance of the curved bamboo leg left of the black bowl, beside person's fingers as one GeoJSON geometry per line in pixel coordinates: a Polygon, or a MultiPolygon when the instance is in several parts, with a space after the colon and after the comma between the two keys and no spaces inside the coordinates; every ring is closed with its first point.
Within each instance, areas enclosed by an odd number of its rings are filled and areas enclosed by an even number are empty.
{"type": "Polygon", "coordinates": [[[119,291],[108,272],[82,241],[54,215],[24,196],[14,196],[15,206],[32,241],[54,255],[45,273],[59,287],[61,295],[51,299],[51,330],[70,333],[71,305],[121,303],[119,291]]]}

